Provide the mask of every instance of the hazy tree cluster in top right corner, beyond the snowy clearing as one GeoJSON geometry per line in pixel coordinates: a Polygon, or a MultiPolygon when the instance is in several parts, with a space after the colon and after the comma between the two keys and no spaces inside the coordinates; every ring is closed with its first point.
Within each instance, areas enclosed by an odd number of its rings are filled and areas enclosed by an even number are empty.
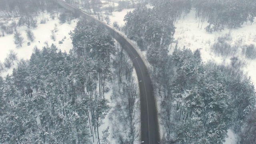
{"type": "Polygon", "coordinates": [[[224,30],[225,26],[236,28],[248,21],[252,24],[256,16],[255,0],[193,0],[193,6],[199,22],[208,21],[208,32],[224,30]]]}

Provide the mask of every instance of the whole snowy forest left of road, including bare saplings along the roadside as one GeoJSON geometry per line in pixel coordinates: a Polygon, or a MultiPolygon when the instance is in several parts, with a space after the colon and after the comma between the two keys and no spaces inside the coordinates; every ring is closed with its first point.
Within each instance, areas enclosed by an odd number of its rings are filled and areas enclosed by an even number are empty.
{"type": "MultiPolygon", "coordinates": [[[[138,92],[122,47],[104,27],[83,18],[70,35],[69,54],[54,44],[35,47],[29,60],[18,61],[11,75],[1,77],[1,142],[109,143],[109,127],[101,138],[98,130],[110,112],[104,98],[108,86],[115,86],[111,97],[116,99],[111,128],[124,142],[138,138],[138,92]],[[127,120],[128,128],[118,119],[127,120]],[[122,126],[127,132],[120,131],[122,126]],[[122,138],[125,134],[129,137],[122,138]]],[[[12,62],[15,56],[12,52],[12,62]]]]}

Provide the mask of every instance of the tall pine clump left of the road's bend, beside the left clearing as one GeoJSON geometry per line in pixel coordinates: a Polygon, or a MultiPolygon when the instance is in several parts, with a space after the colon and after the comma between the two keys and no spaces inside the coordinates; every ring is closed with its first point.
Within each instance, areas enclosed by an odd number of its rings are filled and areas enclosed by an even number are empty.
{"type": "Polygon", "coordinates": [[[87,22],[81,18],[71,34],[72,44],[79,58],[90,58],[95,63],[99,78],[99,92],[104,92],[104,85],[110,72],[110,54],[115,54],[114,40],[104,26],[87,22]]]}

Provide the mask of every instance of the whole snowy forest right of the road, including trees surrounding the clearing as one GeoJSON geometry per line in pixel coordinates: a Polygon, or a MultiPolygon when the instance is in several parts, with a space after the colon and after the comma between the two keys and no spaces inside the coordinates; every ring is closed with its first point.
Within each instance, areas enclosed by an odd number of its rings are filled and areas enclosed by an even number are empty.
{"type": "MultiPolygon", "coordinates": [[[[222,144],[229,129],[241,144],[255,143],[255,88],[243,72],[238,45],[226,43],[230,34],[219,37],[212,52],[231,57],[229,64],[202,62],[200,49],[178,47],[175,23],[194,8],[198,27],[206,21],[206,32],[236,28],[256,14],[255,1],[156,0],[153,8],[137,8],[124,17],[128,38],[146,50],[158,96],[162,142],[170,144],[222,144]],[[172,51],[171,54],[169,51],[172,51]]],[[[255,59],[254,44],[240,46],[241,55],[255,59]],[[246,54],[247,52],[247,54],[246,54]]]]}

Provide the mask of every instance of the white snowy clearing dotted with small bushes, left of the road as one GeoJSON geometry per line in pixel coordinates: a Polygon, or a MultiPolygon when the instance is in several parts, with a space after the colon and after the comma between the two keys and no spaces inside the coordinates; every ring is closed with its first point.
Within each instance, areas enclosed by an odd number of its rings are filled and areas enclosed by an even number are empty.
{"type": "MultiPolygon", "coordinates": [[[[9,54],[10,50],[14,50],[14,52],[18,53],[18,60],[30,59],[34,46],[42,49],[43,46],[46,46],[45,42],[48,42],[49,45],[55,44],[58,49],[62,50],[62,52],[69,52],[73,45],[71,43],[72,41],[70,39],[70,35],[68,35],[68,32],[70,32],[70,30],[74,30],[77,19],[71,20],[70,24],[60,24],[57,18],[55,20],[52,20],[48,14],[44,14],[43,17],[46,19],[48,18],[49,21],[46,21],[46,24],[38,24],[37,28],[31,28],[34,36],[36,37],[34,42],[31,42],[27,39],[25,32],[25,30],[27,29],[26,26],[17,27],[18,32],[20,32],[22,34],[22,37],[24,38],[24,43],[20,48],[16,48],[16,45],[14,44],[14,34],[6,34],[6,36],[0,37],[0,62],[4,63],[4,59],[9,54]],[[52,34],[51,30],[54,29],[54,24],[57,24],[58,28],[58,31],[55,33],[56,41],[53,41],[50,38],[52,34]],[[66,36],[66,39],[64,40],[63,44],[58,44],[58,41],[62,40],[64,36],[66,36]],[[27,46],[27,42],[30,42],[31,45],[27,46]]],[[[12,68],[14,68],[14,66],[12,68]]],[[[6,76],[8,73],[12,73],[12,68],[2,73],[1,75],[6,76]]]]}

